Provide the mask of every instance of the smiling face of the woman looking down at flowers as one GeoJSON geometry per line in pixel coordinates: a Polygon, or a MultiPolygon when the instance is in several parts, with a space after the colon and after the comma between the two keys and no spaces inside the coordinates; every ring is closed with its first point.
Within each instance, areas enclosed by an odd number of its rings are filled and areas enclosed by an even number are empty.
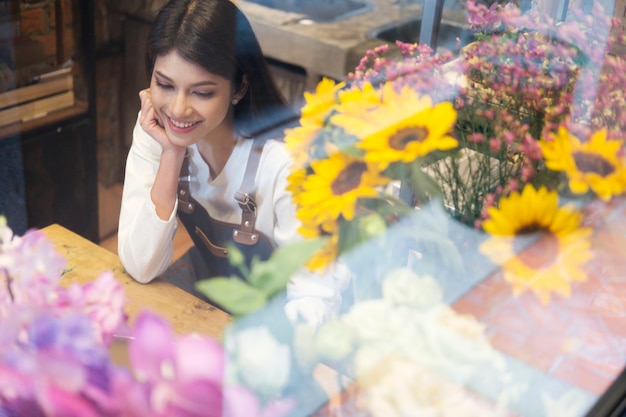
{"type": "Polygon", "coordinates": [[[176,145],[189,146],[211,135],[232,135],[227,117],[232,100],[230,80],[206,71],[171,51],[157,57],[150,81],[152,106],[176,145]]]}

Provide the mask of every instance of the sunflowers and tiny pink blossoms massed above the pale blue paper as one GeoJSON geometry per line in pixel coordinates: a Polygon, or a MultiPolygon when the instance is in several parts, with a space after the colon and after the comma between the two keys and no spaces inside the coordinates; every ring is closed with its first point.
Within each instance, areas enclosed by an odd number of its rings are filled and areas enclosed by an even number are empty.
{"type": "Polygon", "coordinates": [[[461,56],[397,42],[400,58],[381,46],[346,81],[305,93],[285,141],[301,231],[329,239],[311,267],[429,201],[480,230],[527,185],[568,199],[621,194],[624,61],[606,54],[616,22],[594,7],[557,24],[470,1],[476,40],[461,56]]]}

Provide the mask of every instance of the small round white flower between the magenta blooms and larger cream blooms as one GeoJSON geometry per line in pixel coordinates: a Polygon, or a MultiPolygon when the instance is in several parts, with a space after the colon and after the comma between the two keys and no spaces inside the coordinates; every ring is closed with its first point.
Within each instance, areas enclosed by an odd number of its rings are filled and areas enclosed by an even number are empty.
{"type": "Polygon", "coordinates": [[[276,340],[266,327],[239,331],[235,343],[236,363],[243,382],[261,395],[279,393],[289,378],[289,346],[276,340]]]}

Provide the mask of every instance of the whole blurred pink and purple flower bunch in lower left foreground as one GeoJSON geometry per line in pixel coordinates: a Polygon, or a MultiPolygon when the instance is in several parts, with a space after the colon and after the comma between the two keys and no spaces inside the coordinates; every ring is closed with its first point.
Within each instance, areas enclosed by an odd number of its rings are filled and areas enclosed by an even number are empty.
{"type": "Polygon", "coordinates": [[[292,410],[286,396],[264,395],[268,385],[259,385],[263,375],[250,355],[238,365],[248,385],[229,380],[237,362],[220,341],[175,334],[148,311],[130,326],[111,272],[66,287],[65,265],[43,232],[14,236],[0,217],[0,415],[274,417],[292,410]],[[113,355],[113,344],[126,345],[128,357],[113,355]]]}

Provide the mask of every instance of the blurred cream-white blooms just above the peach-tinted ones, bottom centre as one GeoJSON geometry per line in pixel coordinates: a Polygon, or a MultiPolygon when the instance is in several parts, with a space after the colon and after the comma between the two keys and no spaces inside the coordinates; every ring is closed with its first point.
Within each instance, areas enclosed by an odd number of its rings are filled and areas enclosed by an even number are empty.
{"type": "Polygon", "coordinates": [[[430,276],[396,269],[383,283],[382,299],[356,303],[340,320],[353,331],[357,377],[394,354],[449,377],[468,379],[484,367],[508,375],[485,325],[445,304],[430,276]]]}

